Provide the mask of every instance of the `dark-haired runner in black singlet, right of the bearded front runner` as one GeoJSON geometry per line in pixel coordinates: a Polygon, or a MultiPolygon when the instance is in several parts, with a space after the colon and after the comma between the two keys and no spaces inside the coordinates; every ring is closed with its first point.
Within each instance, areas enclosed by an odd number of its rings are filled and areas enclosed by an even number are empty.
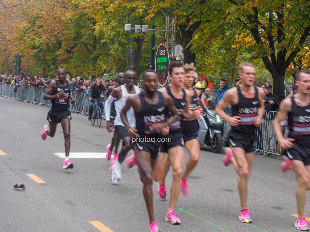
{"type": "MultiPolygon", "coordinates": [[[[164,162],[164,172],[161,180],[158,182],[158,195],[160,199],[166,200],[166,175],[172,165],[173,181],[170,188],[170,202],[168,213],[166,215],[166,221],[170,221],[171,224],[180,224],[181,220],[175,215],[174,209],[179,198],[179,194],[182,187],[183,176],[183,163],[184,163],[184,150],[182,148],[182,134],[181,134],[181,117],[182,114],[188,119],[197,119],[200,117],[202,107],[197,107],[195,110],[190,110],[189,105],[192,102],[191,92],[182,88],[184,82],[184,67],[179,61],[172,61],[169,65],[169,78],[171,84],[166,87],[160,88],[159,91],[172,97],[173,103],[179,113],[179,120],[171,124],[169,127],[169,134],[164,138],[166,139],[162,143],[161,154],[159,159],[163,162],[164,153],[168,153],[164,162]]],[[[166,115],[170,118],[170,115],[166,115]]]]}

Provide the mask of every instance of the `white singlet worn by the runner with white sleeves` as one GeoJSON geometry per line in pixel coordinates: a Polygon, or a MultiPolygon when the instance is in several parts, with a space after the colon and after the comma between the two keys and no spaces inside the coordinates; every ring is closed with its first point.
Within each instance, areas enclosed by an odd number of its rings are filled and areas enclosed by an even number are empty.
{"type": "MultiPolygon", "coordinates": [[[[121,85],[122,97],[121,97],[121,99],[118,99],[114,103],[115,110],[116,110],[116,117],[114,120],[114,126],[116,126],[116,125],[124,126],[119,114],[120,114],[121,110],[123,109],[123,107],[125,106],[128,97],[134,96],[134,95],[137,95],[140,93],[140,89],[138,86],[134,85],[134,88],[135,88],[135,93],[128,93],[127,89],[126,89],[126,84],[121,85]]],[[[128,118],[129,125],[131,127],[135,128],[135,111],[132,107],[130,107],[130,109],[127,111],[127,118],[128,118]]]]}

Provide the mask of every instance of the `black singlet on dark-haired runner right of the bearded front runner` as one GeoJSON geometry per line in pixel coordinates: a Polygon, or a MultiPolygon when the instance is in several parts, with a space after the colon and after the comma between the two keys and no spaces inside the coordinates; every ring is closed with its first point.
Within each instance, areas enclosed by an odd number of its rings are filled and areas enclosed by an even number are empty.
{"type": "MultiPolygon", "coordinates": [[[[175,105],[176,110],[178,111],[180,117],[179,120],[172,123],[169,127],[169,131],[179,131],[181,129],[181,120],[182,120],[182,113],[184,111],[184,106],[186,105],[187,101],[186,101],[186,93],[184,88],[182,89],[183,92],[183,98],[182,99],[178,99],[175,96],[173,96],[169,85],[166,86],[167,89],[167,93],[168,95],[170,95],[170,97],[172,97],[173,100],[173,104],[175,105]]],[[[166,115],[166,120],[168,120],[171,116],[171,113],[169,112],[169,114],[166,115]]]]}

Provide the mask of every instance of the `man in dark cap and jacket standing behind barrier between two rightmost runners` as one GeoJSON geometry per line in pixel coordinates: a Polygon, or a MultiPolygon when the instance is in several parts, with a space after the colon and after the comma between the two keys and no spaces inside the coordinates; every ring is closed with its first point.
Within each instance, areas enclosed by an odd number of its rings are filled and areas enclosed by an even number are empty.
{"type": "Polygon", "coordinates": [[[272,127],[272,120],[276,116],[275,112],[270,111],[277,111],[277,108],[280,105],[280,99],[271,93],[272,85],[266,84],[265,85],[265,92],[264,95],[264,103],[265,103],[265,110],[267,114],[264,114],[264,118],[262,120],[262,127],[263,127],[263,140],[265,144],[265,152],[273,152],[276,146],[276,136],[273,131],[272,127]],[[269,117],[268,117],[269,114],[269,117]],[[270,138],[270,146],[268,146],[268,138],[270,138]],[[269,147],[269,150],[268,150],[269,147]]]}

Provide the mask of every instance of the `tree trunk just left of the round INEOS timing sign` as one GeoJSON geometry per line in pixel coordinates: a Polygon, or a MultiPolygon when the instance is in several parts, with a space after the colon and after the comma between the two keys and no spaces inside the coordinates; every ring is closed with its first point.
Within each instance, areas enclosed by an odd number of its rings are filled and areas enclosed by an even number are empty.
{"type": "Polygon", "coordinates": [[[128,41],[127,69],[135,71],[137,74],[136,82],[138,82],[142,44],[143,38],[141,37],[132,38],[128,41]]]}

